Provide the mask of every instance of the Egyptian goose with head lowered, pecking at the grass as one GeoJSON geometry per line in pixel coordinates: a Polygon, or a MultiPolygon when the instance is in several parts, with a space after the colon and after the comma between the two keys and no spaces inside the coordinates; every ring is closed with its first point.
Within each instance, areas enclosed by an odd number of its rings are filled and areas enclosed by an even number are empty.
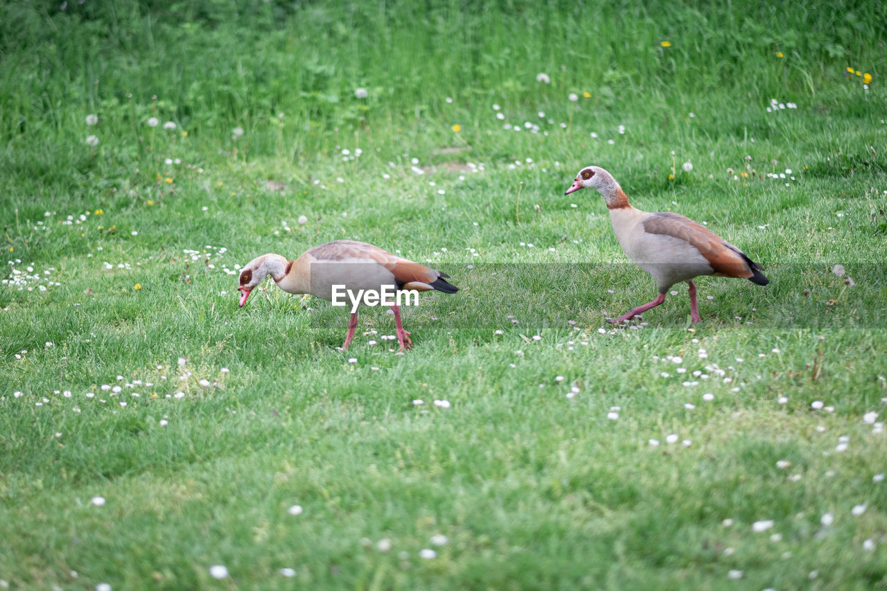
{"type": "MultiPolygon", "coordinates": [[[[290,294],[310,294],[330,302],[336,297],[346,303],[351,309],[351,319],[348,336],[341,345],[343,350],[348,349],[357,328],[357,303],[371,303],[373,297],[365,292],[361,296],[360,290],[374,290],[380,295],[387,292],[391,297],[396,291],[410,289],[436,289],[445,294],[459,290],[443,279],[449,275],[355,240],[334,240],[309,248],[294,261],[272,253],[253,259],[240,272],[241,307],[265,275],[271,275],[278,287],[290,294]]],[[[378,297],[375,303],[380,303],[378,297]]],[[[411,349],[410,333],[400,322],[400,308],[393,300],[381,304],[394,309],[397,342],[400,343],[397,352],[411,349]]]]}

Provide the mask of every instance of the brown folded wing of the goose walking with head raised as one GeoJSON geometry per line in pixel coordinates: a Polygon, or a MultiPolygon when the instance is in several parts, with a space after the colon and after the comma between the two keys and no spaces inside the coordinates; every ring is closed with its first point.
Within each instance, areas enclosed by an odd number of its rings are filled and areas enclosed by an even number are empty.
{"type": "Polygon", "coordinates": [[[686,241],[705,257],[715,275],[742,279],[754,275],[742,250],[689,217],[671,211],[656,213],[644,222],[644,231],[686,241]]]}

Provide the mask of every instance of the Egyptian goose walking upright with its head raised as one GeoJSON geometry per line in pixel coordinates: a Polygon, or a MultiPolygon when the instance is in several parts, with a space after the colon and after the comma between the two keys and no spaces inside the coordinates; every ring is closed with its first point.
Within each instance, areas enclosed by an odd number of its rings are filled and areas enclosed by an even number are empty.
{"type": "Polygon", "coordinates": [[[690,286],[690,319],[699,322],[693,283],[699,275],[736,277],[757,285],[770,282],[761,273],[764,270],[761,265],[692,219],[670,211],[648,213],[632,208],[628,195],[606,170],[586,166],[564,194],[585,187],[593,187],[603,195],[616,239],[632,261],[653,275],[659,289],[659,296],[652,302],[633,308],[617,319],[608,319],[608,322],[631,319],[663,303],[669,288],[679,281],[687,281],[690,286]]]}

